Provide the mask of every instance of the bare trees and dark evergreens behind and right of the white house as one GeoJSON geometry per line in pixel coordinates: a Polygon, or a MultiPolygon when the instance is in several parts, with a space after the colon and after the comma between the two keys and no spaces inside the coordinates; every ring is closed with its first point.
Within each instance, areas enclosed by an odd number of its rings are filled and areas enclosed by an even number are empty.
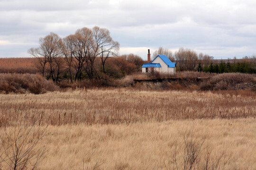
{"type": "Polygon", "coordinates": [[[174,53],[169,49],[159,47],[153,54],[166,55],[171,61],[176,62],[176,71],[203,71],[209,73],[256,73],[256,55],[243,59],[213,59],[213,56],[199,53],[190,49],[180,48],[174,53]]]}

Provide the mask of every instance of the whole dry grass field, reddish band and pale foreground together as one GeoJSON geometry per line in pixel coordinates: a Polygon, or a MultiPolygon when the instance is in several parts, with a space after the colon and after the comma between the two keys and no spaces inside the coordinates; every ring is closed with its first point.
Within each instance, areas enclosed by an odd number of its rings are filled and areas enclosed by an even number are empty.
{"type": "MultiPolygon", "coordinates": [[[[38,139],[34,151],[45,151],[39,170],[189,170],[191,155],[193,170],[255,170],[255,117],[251,91],[9,93],[0,94],[0,143],[11,141],[14,127],[35,125],[24,141],[38,139]]],[[[9,148],[0,148],[3,170],[3,155],[15,153],[9,148]]]]}

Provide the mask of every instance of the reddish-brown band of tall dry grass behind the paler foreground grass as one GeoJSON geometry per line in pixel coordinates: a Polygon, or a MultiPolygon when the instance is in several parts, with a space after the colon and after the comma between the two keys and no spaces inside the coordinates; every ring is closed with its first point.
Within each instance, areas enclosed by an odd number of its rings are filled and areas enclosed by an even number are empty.
{"type": "Polygon", "coordinates": [[[170,119],[255,118],[255,94],[247,91],[134,91],[129,88],[39,95],[0,94],[0,127],[12,126],[17,120],[27,125],[90,125],[170,119]]]}

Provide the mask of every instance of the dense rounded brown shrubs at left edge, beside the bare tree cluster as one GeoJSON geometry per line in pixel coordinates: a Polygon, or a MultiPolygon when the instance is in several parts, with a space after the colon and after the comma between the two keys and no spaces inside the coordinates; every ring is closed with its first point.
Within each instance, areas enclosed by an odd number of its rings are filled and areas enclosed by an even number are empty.
{"type": "Polygon", "coordinates": [[[3,93],[46,93],[58,90],[52,82],[34,74],[0,74],[0,92],[3,93]]]}

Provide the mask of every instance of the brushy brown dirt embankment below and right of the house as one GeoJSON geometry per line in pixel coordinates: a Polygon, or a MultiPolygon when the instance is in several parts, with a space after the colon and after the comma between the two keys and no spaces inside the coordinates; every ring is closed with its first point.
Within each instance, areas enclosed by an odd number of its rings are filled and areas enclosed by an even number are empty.
{"type": "Polygon", "coordinates": [[[240,73],[226,73],[211,77],[163,78],[137,80],[131,86],[154,90],[249,90],[256,91],[256,77],[240,73]]]}

